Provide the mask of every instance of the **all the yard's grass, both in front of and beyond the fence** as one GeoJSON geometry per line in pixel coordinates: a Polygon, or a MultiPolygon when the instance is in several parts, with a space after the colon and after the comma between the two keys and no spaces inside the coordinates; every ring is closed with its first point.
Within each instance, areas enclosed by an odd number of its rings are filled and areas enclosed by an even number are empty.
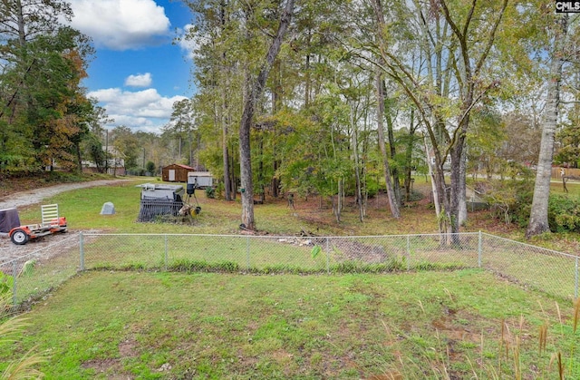
{"type": "MultiPolygon", "coordinates": [[[[209,200],[203,191],[197,193],[202,212],[192,225],[137,223],[140,189],[135,185],[142,182],[70,191],[45,203],[59,204],[72,231],[240,233],[239,202],[209,200]],[[106,201],[115,204],[115,215],[99,214],[106,201]]],[[[416,189],[429,191],[428,184],[416,183],[416,189]]],[[[285,200],[269,200],[256,205],[256,221],[260,233],[269,236],[436,232],[434,211],[425,203],[407,205],[395,220],[382,195],[370,201],[361,223],[350,201],[338,224],[328,200],[296,199],[295,209],[285,200]]],[[[23,223],[39,219],[38,206],[19,211],[23,223]]],[[[466,230],[523,235],[489,219],[486,211],[470,216],[466,230]]],[[[568,248],[575,247],[577,237],[570,235],[546,242],[564,239],[568,248]]],[[[137,264],[137,251],[164,249],[162,240],[122,241],[122,257],[135,255],[137,264]]],[[[106,244],[100,252],[111,253],[106,244]]],[[[198,253],[227,252],[229,247],[220,244],[200,242],[198,253]]],[[[310,248],[276,249],[289,259],[298,254],[311,260],[313,268],[326,264],[322,256],[314,259],[310,248]]],[[[190,258],[185,250],[176,252],[190,258]]],[[[517,254],[507,252],[507,258],[517,254]]],[[[230,255],[228,260],[242,265],[247,260],[230,255]]],[[[543,259],[505,269],[546,280],[543,259]]],[[[153,264],[161,263],[159,256],[153,264]]],[[[580,378],[574,315],[570,302],[558,305],[477,269],[333,276],[113,269],[73,278],[36,304],[25,315],[31,326],[24,338],[0,345],[0,362],[38,345],[36,351],[50,357],[41,369],[47,378],[59,379],[558,378],[553,355],[561,353],[566,378],[580,378]]]]}

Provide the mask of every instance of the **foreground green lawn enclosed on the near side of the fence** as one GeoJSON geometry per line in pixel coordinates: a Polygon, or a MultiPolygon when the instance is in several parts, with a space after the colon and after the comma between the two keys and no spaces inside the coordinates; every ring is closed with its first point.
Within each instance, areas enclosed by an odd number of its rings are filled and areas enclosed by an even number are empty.
{"type": "Polygon", "coordinates": [[[54,379],[556,378],[560,352],[577,378],[573,314],[478,270],[89,272],[27,313],[24,339],[0,357],[37,345],[54,379]]]}

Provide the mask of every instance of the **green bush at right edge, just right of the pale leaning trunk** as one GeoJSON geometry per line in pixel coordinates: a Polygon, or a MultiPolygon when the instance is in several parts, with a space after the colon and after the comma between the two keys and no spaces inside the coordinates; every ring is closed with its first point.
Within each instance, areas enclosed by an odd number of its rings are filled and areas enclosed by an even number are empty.
{"type": "Polygon", "coordinates": [[[552,232],[580,232],[580,199],[559,194],[550,196],[547,221],[552,232]]]}

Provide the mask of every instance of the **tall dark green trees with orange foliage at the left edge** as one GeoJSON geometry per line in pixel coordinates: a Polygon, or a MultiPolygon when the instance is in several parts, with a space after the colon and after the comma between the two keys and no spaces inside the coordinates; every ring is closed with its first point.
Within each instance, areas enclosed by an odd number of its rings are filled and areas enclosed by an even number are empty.
{"type": "Polygon", "coordinates": [[[82,170],[81,142],[97,115],[81,86],[93,51],[65,1],[0,4],[0,172],[38,171],[55,162],[82,170]]]}

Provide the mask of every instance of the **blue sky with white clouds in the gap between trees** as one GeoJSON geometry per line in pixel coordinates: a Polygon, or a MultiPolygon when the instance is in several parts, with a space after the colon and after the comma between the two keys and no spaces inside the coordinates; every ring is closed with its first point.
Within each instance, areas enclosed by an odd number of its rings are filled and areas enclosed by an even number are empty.
{"type": "Polygon", "coordinates": [[[191,48],[174,44],[190,26],[176,0],[69,0],[72,26],[92,38],[96,54],[82,85],[109,117],[106,125],[160,132],[174,102],[191,97],[191,48]]]}

